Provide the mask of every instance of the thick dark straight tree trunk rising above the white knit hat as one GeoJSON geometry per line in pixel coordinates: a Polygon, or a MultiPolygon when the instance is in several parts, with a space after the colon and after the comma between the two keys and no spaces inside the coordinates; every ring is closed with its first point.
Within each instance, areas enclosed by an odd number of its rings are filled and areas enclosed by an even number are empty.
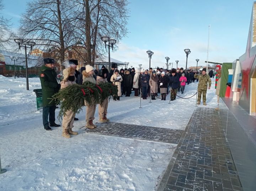
{"type": "Polygon", "coordinates": [[[86,36],[86,64],[91,62],[91,19],[89,0],[85,0],[85,36],[86,36]]]}

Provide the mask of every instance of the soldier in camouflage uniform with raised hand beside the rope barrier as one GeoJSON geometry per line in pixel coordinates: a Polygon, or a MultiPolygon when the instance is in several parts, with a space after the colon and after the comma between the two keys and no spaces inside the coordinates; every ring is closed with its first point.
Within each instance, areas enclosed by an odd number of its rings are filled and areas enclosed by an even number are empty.
{"type": "Polygon", "coordinates": [[[203,94],[203,105],[206,105],[206,92],[207,92],[207,82],[209,84],[208,89],[210,89],[210,86],[212,85],[212,80],[210,79],[210,76],[206,73],[206,68],[202,70],[202,75],[195,74],[194,78],[198,79],[198,98],[197,98],[197,104],[200,105],[201,102],[201,96],[203,94]]]}

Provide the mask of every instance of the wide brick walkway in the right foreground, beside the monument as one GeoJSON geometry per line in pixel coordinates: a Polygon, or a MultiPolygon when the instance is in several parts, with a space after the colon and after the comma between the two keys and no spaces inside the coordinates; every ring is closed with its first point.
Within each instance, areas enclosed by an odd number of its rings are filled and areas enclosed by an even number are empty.
{"type": "Polygon", "coordinates": [[[242,191],[222,125],[215,109],[194,111],[158,191],[242,191]]]}

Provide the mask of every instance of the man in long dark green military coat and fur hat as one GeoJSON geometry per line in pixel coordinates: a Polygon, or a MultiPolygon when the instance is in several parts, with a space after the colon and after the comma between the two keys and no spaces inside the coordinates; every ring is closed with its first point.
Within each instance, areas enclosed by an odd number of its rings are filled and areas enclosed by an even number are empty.
{"type": "Polygon", "coordinates": [[[39,78],[42,86],[43,94],[43,126],[47,131],[51,131],[50,127],[60,127],[55,124],[55,109],[57,102],[54,102],[48,98],[57,93],[60,89],[60,84],[57,82],[57,73],[54,70],[55,60],[53,58],[44,58],[44,65],[39,71],[39,78]],[[51,102],[51,103],[50,103],[51,102]],[[49,122],[48,122],[49,116],[49,122]]]}

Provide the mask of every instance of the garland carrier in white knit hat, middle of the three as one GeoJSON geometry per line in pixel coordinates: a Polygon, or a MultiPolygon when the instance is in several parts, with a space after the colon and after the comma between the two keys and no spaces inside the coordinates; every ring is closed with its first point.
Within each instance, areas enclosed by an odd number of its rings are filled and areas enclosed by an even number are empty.
{"type": "MultiPolygon", "coordinates": [[[[86,65],[85,66],[85,70],[82,72],[83,75],[83,83],[86,81],[92,82],[96,84],[96,80],[93,77],[93,73],[94,73],[94,68],[91,65],[86,65]]],[[[92,104],[90,105],[89,103],[87,103],[85,101],[85,105],[86,105],[86,125],[85,127],[87,127],[88,129],[94,129],[97,127],[97,125],[93,124],[93,120],[94,115],[95,115],[95,110],[96,110],[96,104],[94,102],[94,98],[91,98],[92,104]]]]}

